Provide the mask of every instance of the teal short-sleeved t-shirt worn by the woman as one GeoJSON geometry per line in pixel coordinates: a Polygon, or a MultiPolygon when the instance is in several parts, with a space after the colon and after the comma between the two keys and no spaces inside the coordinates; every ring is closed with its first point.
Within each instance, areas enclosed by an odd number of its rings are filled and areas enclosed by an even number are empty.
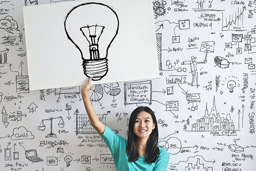
{"type": "Polygon", "coordinates": [[[139,156],[137,161],[129,162],[126,153],[127,140],[115,134],[110,128],[105,126],[105,131],[100,134],[111,151],[117,171],[166,171],[169,164],[169,153],[159,148],[158,159],[151,164],[144,161],[144,156],[139,156]]]}

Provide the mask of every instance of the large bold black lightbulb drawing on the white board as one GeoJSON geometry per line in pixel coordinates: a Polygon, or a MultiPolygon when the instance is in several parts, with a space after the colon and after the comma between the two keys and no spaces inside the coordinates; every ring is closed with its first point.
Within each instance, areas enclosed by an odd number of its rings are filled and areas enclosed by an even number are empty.
{"type": "Polygon", "coordinates": [[[64,27],[81,53],[84,74],[94,81],[101,80],[108,72],[108,49],[118,33],[116,12],[101,3],[80,4],[68,12],[64,27]]]}

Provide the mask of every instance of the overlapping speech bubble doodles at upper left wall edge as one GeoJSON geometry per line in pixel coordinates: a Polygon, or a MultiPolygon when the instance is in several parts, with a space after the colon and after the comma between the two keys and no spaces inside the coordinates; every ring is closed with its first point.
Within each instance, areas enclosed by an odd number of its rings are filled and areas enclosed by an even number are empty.
{"type": "Polygon", "coordinates": [[[12,34],[13,34],[12,29],[20,32],[20,30],[18,30],[18,24],[12,18],[12,16],[6,16],[4,19],[1,19],[0,20],[0,28],[4,29],[8,33],[12,33],[12,34]]]}

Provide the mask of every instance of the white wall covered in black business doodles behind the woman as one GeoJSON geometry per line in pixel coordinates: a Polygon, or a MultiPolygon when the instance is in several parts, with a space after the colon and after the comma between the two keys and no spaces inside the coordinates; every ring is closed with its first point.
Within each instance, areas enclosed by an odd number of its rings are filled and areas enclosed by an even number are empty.
{"type": "MultiPolygon", "coordinates": [[[[1,170],[116,170],[79,86],[29,90],[22,7],[67,1],[0,1],[1,170]]],[[[152,6],[160,78],[94,85],[100,121],[126,138],[130,113],[149,106],[169,170],[256,170],[256,1],[152,6]]]]}

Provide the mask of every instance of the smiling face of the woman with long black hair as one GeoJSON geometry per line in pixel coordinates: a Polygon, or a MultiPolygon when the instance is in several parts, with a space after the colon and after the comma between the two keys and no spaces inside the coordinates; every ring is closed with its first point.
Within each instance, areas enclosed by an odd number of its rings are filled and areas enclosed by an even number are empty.
{"type": "Polygon", "coordinates": [[[149,138],[152,130],[155,129],[155,123],[148,112],[142,111],[138,114],[133,131],[138,138],[149,138]]]}

